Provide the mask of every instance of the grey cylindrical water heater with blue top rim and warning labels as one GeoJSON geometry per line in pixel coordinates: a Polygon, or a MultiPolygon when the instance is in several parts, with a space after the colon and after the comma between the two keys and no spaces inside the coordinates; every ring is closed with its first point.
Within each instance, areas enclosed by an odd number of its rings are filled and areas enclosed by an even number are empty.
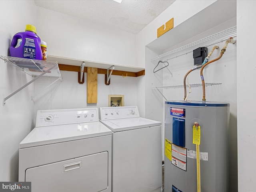
{"type": "Polygon", "coordinates": [[[184,101],[165,102],[164,191],[198,191],[195,123],[200,126],[201,191],[226,192],[229,104],[184,101]]]}

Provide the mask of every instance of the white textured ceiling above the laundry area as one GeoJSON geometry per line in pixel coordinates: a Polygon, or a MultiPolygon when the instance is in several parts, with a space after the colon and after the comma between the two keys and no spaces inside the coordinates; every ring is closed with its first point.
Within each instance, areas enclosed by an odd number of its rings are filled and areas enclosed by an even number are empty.
{"type": "Polygon", "coordinates": [[[34,0],[36,6],[137,34],[175,0],[34,0]]]}

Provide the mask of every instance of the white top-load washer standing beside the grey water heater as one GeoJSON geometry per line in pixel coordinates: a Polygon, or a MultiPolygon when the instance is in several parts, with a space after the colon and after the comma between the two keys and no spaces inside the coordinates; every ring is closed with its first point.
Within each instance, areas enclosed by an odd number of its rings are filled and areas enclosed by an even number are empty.
{"type": "Polygon", "coordinates": [[[112,130],[112,192],[161,191],[162,123],[137,106],[102,107],[100,122],[112,130]]]}

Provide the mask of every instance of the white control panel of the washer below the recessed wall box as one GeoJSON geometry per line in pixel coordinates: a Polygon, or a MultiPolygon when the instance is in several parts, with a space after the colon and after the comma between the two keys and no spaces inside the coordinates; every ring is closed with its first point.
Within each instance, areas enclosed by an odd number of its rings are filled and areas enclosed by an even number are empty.
{"type": "Polygon", "coordinates": [[[140,117],[138,107],[100,107],[100,120],[140,117]]]}

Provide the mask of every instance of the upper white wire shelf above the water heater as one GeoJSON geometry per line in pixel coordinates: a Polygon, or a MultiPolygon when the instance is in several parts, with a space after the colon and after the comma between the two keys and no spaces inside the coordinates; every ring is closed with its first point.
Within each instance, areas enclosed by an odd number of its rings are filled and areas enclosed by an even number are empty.
{"type": "Polygon", "coordinates": [[[228,28],[216,34],[210,35],[208,37],[202,38],[198,41],[192,42],[190,44],[174,49],[172,51],[166,52],[159,56],[156,56],[152,58],[151,61],[162,59],[162,58],[164,58],[164,60],[162,61],[168,61],[173,58],[193,52],[193,50],[195,50],[198,47],[208,47],[208,46],[217,44],[219,42],[222,42],[224,40],[227,40],[230,37],[233,37],[233,38],[236,37],[236,26],[228,28]]]}

